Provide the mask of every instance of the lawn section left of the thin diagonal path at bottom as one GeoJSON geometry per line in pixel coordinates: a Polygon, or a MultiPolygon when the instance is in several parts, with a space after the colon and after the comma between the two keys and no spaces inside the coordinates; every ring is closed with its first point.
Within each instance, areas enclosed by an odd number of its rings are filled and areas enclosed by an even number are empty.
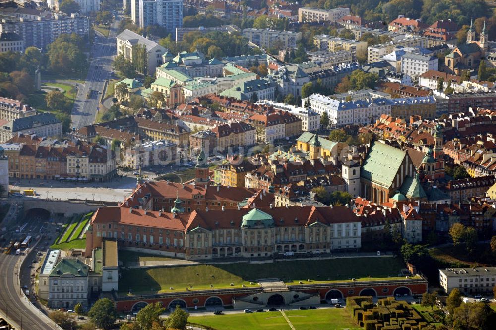
{"type": "Polygon", "coordinates": [[[291,330],[281,312],[190,316],[188,321],[217,330],[291,330]],[[237,328],[236,325],[243,325],[237,328]],[[233,328],[234,327],[234,328],[233,328]]]}

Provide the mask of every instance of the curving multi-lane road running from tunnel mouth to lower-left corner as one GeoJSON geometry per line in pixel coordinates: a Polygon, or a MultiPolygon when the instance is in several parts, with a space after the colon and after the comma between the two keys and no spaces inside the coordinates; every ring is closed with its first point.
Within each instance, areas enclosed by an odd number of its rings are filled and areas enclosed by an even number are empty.
{"type": "MultiPolygon", "coordinates": [[[[30,234],[34,237],[37,233],[40,233],[42,226],[45,225],[44,222],[48,220],[45,216],[43,219],[35,219],[33,214],[28,214],[25,217],[26,221],[29,221],[28,225],[24,230],[23,236],[30,234]]],[[[15,235],[15,233],[13,233],[15,235]]],[[[21,234],[18,234],[21,235],[21,234]]],[[[14,239],[14,237],[13,237],[14,239]]],[[[15,238],[17,239],[17,238],[15,238]]],[[[34,240],[33,240],[34,241],[34,240]]],[[[34,242],[33,242],[34,244],[34,242]]],[[[3,252],[3,251],[2,251],[3,252]]],[[[25,258],[31,260],[36,252],[32,252],[29,256],[25,258]]],[[[28,302],[28,298],[22,293],[21,285],[27,285],[30,287],[30,269],[27,267],[29,263],[25,264],[25,267],[20,268],[21,258],[23,255],[12,254],[0,254],[0,312],[5,315],[8,320],[14,323],[16,329],[29,329],[29,330],[54,330],[57,329],[55,324],[50,321],[46,316],[41,315],[41,312],[37,310],[31,302],[28,302]],[[19,283],[19,277],[17,272],[20,271],[21,279],[19,283]]]]}

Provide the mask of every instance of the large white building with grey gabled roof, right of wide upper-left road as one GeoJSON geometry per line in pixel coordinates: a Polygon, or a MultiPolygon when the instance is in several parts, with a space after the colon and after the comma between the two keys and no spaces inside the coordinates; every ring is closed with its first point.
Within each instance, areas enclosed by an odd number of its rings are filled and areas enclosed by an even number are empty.
{"type": "MultiPolygon", "coordinates": [[[[147,72],[144,74],[153,75],[157,66],[162,64],[162,54],[167,50],[145,37],[140,36],[130,30],[125,29],[116,38],[117,42],[117,55],[124,55],[124,58],[132,62],[132,46],[139,44],[146,47],[147,53],[147,72]]],[[[158,78],[158,77],[157,77],[158,78]]]]}

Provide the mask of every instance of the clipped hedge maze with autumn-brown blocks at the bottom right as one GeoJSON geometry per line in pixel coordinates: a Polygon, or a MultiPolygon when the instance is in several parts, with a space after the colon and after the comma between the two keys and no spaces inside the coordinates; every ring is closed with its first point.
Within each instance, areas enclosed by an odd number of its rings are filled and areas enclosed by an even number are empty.
{"type": "Polygon", "coordinates": [[[406,301],[394,297],[379,299],[371,296],[347,297],[346,308],[365,330],[422,330],[429,325],[406,301]]]}

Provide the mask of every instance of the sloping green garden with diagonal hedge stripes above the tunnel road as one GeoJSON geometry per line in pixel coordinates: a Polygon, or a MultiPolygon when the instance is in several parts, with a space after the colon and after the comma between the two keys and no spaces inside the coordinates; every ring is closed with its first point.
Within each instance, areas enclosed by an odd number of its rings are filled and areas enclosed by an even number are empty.
{"type": "Polygon", "coordinates": [[[55,238],[54,244],[52,244],[50,248],[61,250],[84,249],[86,247],[86,234],[84,233],[84,230],[91,220],[92,215],[93,212],[90,212],[70,217],[67,222],[62,225],[59,236],[55,238]]]}

